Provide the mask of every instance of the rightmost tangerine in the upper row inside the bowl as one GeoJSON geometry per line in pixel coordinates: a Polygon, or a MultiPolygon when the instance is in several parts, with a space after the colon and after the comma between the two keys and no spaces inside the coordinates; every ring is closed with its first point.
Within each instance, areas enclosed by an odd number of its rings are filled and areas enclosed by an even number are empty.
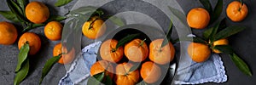
{"type": "Polygon", "coordinates": [[[154,63],[165,65],[174,59],[175,49],[171,42],[161,48],[164,39],[156,39],[149,44],[149,59],[154,63]]]}

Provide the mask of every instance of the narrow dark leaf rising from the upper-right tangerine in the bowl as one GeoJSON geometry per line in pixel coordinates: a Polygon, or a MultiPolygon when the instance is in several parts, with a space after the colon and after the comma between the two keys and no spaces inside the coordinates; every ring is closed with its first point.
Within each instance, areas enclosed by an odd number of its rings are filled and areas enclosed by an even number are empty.
{"type": "Polygon", "coordinates": [[[161,43],[161,48],[165,47],[166,44],[171,41],[171,35],[172,35],[172,20],[170,21],[169,30],[167,31],[166,37],[164,38],[164,41],[161,43]]]}

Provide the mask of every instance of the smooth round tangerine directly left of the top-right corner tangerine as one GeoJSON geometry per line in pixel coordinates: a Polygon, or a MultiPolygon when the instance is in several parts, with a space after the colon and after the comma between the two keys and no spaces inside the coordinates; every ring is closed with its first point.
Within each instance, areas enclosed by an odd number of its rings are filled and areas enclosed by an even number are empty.
{"type": "Polygon", "coordinates": [[[210,22],[210,14],[205,8],[192,8],[187,15],[187,22],[192,28],[203,29],[210,22]]]}

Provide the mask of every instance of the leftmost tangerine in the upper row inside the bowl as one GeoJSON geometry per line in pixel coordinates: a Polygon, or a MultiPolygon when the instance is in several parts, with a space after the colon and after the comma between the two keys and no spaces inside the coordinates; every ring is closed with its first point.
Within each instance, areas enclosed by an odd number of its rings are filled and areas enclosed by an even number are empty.
{"type": "Polygon", "coordinates": [[[100,48],[102,59],[116,63],[123,58],[124,48],[116,48],[117,43],[118,41],[114,39],[108,39],[107,41],[102,42],[102,46],[100,48]]]}

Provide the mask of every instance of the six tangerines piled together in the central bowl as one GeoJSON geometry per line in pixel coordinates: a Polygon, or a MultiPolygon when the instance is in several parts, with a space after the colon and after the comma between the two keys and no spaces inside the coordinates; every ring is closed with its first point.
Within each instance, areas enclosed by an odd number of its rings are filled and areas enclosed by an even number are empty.
{"type": "Polygon", "coordinates": [[[169,64],[174,59],[175,49],[171,42],[161,47],[164,39],[156,39],[150,44],[144,41],[136,38],[124,46],[118,45],[122,39],[102,42],[99,50],[102,60],[91,66],[90,75],[109,76],[110,82],[113,80],[117,85],[136,84],[140,77],[147,83],[157,82],[162,75],[160,65],[169,64]],[[128,59],[128,62],[123,59],[128,59]],[[143,64],[140,67],[137,63],[143,64]]]}

